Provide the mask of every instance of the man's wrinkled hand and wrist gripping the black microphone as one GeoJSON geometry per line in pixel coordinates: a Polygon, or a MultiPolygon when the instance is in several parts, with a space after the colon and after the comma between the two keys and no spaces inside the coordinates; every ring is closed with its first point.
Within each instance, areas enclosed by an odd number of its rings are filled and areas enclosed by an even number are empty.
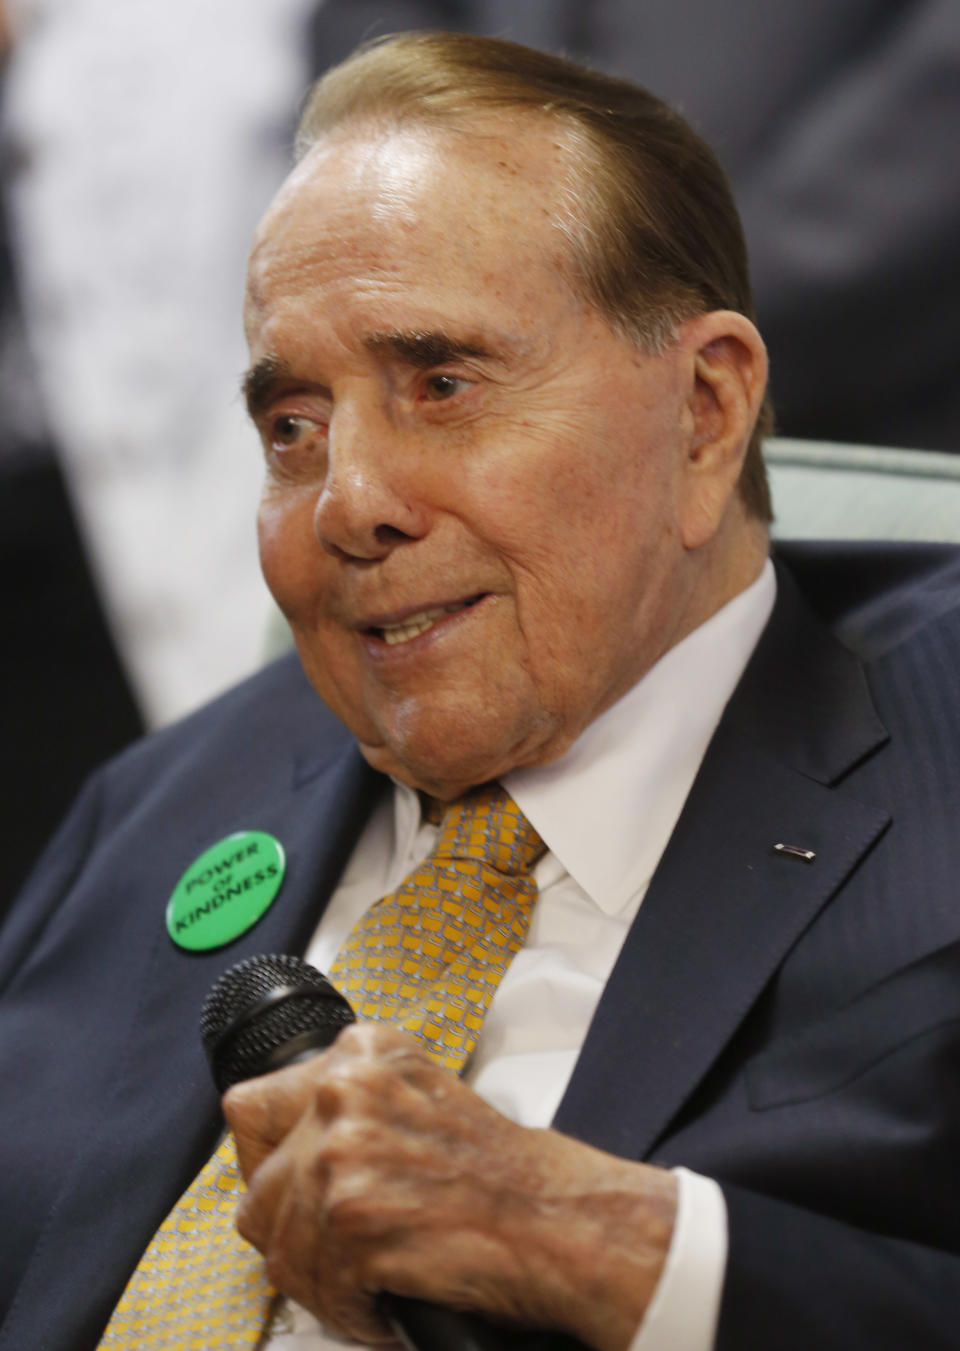
{"type": "Polygon", "coordinates": [[[377,1294],[629,1344],[675,1215],[668,1173],[508,1121],[396,1028],[356,1023],[224,1098],[240,1233],[331,1331],[390,1342],[377,1294]]]}

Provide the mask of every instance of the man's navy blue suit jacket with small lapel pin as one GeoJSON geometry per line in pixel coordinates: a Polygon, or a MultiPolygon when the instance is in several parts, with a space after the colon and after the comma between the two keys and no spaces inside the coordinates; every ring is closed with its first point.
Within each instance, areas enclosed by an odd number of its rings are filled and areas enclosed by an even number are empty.
{"type": "MultiPolygon", "coordinates": [[[[720,1179],[721,1351],[956,1347],[960,555],[783,555],[556,1125],[720,1179]]],[[[302,951],[383,784],[294,658],[90,782],[0,934],[0,1351],[96,1346],[220,1129],[209,985],[302,951]],[[277,902],[180,951],[173,885],[252,828],[277,902]]]]}

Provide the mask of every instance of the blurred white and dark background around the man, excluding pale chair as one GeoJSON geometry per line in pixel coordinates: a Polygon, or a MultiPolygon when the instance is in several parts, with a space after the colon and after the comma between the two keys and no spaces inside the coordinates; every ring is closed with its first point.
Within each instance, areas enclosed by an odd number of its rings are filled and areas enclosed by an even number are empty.
{"type": "Polygon", "coordinates": [[[246,251],[311,80],[416,27],[678,105],[778,431],[960,450],[957,0],[0,0],[0,907],[93,765],[263,659],[246,251]]]}

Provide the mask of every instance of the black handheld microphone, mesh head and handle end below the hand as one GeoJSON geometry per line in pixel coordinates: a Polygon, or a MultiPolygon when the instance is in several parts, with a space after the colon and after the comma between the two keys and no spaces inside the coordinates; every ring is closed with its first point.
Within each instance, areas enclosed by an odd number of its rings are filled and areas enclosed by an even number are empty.
{"type": "MultiPolygon", "coordinates": [[[[216,1086],[225,1093],[240,1079],[317,1055],[352,1021],[350,1004],[298,957],[250,957],[224,971],[211,989],[200,1032],[216,1086]]],[[[581,1347],[556,1333],[513,1332],[398,1294],[383,1293],[381,1312],[408,1351],[581,1347]]]]}

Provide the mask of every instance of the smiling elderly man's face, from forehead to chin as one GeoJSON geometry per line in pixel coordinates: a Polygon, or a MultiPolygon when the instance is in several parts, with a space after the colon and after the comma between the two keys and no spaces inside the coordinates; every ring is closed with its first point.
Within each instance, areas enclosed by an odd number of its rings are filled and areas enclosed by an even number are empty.
{"type": "Polygon", "coordinates": [[[452,796],[560,755],[695,626],[686,354],[566,280],[550,124],[362,124],[254,247],[267,582],[375,767],[452,796]]]}

